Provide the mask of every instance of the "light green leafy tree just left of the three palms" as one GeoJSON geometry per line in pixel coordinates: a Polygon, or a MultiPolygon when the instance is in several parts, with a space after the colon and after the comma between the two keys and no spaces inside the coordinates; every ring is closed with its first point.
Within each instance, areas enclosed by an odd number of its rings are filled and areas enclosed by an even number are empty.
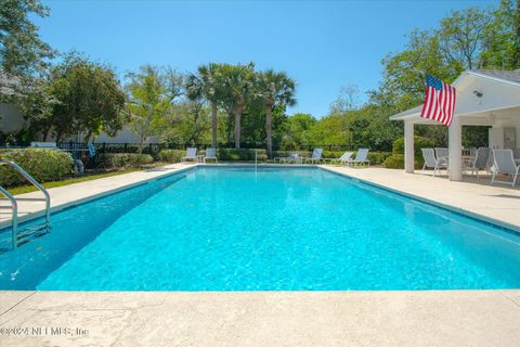
{"type": "Polygon", "coordinates": [[[171,68],[141,66],[138,73],[127,75],[129,82],[126,112],[130,129],[138,136],[140,149],[152,136],[160,132],[173,102],[183,93],[184,79],[171,68]]]}

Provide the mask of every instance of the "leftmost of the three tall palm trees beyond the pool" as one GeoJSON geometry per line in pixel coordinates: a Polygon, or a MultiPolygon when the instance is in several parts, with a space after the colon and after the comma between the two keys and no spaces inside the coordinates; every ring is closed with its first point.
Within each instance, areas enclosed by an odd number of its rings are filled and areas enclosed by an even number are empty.
{"type": "Polygon", "coordinates": [[[211,145],[217,149],[217,115],[222,99],[221,65],[209,63],[200,65],[197,74],[191,74],[186,81],[186,94],[191,100],[206,99],[211,104],[211,145]]]}

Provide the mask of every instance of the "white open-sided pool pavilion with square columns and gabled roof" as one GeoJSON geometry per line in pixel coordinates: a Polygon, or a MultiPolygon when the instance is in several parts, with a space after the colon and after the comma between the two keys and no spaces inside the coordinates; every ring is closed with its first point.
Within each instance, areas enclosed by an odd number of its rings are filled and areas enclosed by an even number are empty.
{"type": "MultiPolygon", "coordinates": [[[[520,147],[520,69],[477,69],[463,73],[453,83],[455,113],[448,129],[450,180],[463,179],[463,126],[491,126],[490,147],[520,147]]],[[[421,105],[390,117],[404,121],[404,168],[414,172],[414,125],[444,126],[421,118],[421,105]]]]}

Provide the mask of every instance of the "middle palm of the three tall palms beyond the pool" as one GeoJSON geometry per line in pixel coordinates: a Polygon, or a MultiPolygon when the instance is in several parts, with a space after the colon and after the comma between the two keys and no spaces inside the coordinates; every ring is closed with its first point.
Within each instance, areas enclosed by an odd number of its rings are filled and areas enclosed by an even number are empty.
{"type": "Polygon", "coordinates": [[[221,65],[222,105],[227,114],[235,118],[235,149],[240,147],[240,118],[244,108],[252,98],[255,86],[255,65],[221,65]]]}

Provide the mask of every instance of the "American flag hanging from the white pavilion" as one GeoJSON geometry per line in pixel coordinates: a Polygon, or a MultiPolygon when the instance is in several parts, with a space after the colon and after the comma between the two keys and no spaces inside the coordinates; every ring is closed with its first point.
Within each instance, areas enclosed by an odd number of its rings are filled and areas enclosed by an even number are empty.
{"type": "Polygon", "coordinates": [[[455,108],[455,88],[430,75],[426,75],[426,86],[420,116],[450,126],[455,108]]]}

